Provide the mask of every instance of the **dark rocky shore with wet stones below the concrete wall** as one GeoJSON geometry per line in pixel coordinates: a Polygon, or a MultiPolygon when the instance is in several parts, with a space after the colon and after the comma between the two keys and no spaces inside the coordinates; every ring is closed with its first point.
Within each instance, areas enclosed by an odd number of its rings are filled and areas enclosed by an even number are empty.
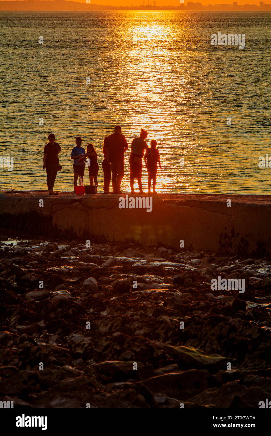
{"type": "Polygon", "coordinates": [[[258,408],[271,395],[271,260],[0,241],[0,401],[258,408]],[[218,276],[244,293],[212,290],[218,276]]]}

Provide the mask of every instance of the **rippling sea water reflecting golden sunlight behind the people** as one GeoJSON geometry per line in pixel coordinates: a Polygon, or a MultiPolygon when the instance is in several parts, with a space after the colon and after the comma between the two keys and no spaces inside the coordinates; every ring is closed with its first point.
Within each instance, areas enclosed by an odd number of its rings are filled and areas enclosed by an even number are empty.
{"type": "MultiPolygon", "coordinates": [[[[103,139],[120,124],[129,144],[141,127],[147,143],[157,140],[161,192],[270,194],[271,168],[258,160],[271,156],[271,13],[25,12],[0,21],[0,156],[14,158],[0,187],[46,189],[43,146],[53,132],[63,166],[55,188],[73,190],[70,151],[81,136],[98,152],[101,190],[103,139]],[[245,48],[211,46],[218,31],[245,34],[245,48]]],[[[127,153],[124,189],[128,173],[127,153]]],[[[146,170],[143,178],[146,189],[146,170]]]]}

